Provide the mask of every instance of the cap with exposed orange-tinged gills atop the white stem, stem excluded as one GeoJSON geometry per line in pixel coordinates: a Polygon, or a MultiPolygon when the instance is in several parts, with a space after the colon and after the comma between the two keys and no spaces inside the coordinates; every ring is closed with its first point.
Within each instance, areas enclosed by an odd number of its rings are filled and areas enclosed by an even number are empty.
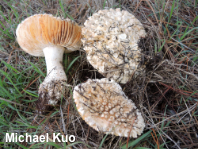
{"type": "Polygon", "coordinates": [[[49,46],[66,47],[67,53],[81,46],[81,27],[49,14],[28,17],[18,25],[16,35],[21,48],[34,56],[44,56],[43,49],[49,46]]]}

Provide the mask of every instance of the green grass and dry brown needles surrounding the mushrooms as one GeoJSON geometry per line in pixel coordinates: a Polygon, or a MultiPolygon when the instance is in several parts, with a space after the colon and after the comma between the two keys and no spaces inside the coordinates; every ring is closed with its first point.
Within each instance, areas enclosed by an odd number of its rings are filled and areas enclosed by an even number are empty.
{"type": "Polygon", "coordinates": [[[198,7],[188,0],[3,0],[0,2],[0,147],[1,148],[197,148],[198,7]],[[80,51],[64,55],[70,96],[47,115],[35,113],[38,87],[46,75],[45,60],[21,51],[17,25],[36,13],[69,17],[83,25],[95,11],[128,10],[144,25],[140,47],[146,74],[122,88],[141,110],[146,128],[137,139],[96,132],[79,116],[72,90],[88,78],[101,78],[80,51]],[[143,81],[142,81],[143,80],[143,81]],[[75,143],[6,143],[5,134],[75,135],[75,143]]]}

